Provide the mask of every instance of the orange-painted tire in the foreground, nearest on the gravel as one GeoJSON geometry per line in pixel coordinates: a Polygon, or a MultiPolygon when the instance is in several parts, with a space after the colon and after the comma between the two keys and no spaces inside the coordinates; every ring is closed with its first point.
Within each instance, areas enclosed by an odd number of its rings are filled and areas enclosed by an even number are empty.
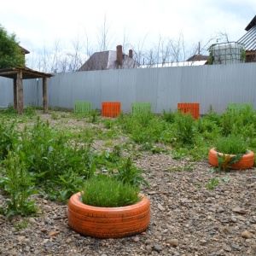
{"type": "Polygon", "coordinates": [[[67,204],[67,223],[79,234],[97,238],[134,236],[148,228],[150,203],[148,197],[127,207],[92,207],[81,201],[80,192],[67,204]]]}

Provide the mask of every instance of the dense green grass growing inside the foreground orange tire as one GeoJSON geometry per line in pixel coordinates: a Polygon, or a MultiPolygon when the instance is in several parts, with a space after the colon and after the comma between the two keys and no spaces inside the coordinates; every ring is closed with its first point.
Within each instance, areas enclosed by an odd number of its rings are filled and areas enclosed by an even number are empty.
{"type": "Polygon", "coordinates": [[[97,175],[86,180],[81,192],[82,201],[94,207],[125,207],[141,200],[139,189],[108,175],[97,175]]]}

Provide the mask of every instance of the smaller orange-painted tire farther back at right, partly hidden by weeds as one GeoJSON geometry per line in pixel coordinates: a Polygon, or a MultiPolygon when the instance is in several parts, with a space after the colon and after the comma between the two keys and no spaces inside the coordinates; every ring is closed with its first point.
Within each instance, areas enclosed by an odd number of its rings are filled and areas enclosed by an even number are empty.
{"type": "MultiPolygon", "coordinates": [[[[218,167],[218,157],[217,154],[224,155],[215,150],[215,148],[211,148],[208,155],[208,160],[210,165],[218,167]]],[[[230,154],[230,157],[235,156],[236,154],[230,154]]],[[[227,160],[228,161],[228,160],[227,160]]],[[[244,154],[241,157],[241,160],[232,164],[231,169],[241,170],[241,169],[250,169],[254,165],[254,153],[251,150],[248,150],[247,154],[244,154]]]]}

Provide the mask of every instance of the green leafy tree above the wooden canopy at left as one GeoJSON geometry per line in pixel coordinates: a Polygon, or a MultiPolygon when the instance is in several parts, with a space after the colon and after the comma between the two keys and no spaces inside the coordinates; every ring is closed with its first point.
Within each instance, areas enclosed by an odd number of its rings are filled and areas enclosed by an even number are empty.
{"type": "Polygon", "coordinates": [[[9,35],[0,24],[0,68],[24,66],[25,57],[20,51],[15,33],[9,35]]]}

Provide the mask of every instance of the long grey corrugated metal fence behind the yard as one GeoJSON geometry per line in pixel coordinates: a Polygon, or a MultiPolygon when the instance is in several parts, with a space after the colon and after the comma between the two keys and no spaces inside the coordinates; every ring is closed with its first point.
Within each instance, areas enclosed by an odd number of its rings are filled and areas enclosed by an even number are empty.
{"type": "MultiPolygon", "coordinates": [[[[49,107],[73,108],[73,102],[120,102],[131,112],[131,102],[151,102],[153,113],[177,109],[178,102],[199,102],[200,113],[210,105],[222,113],[230,102],[247,102],[256,108],[256,63],[198,67],[158,67],[55,73],[48,79],[49,107]]],[[[0,108],[13,103],[13,81],[0,78],[0,108]]],[[[42,106],[42,81],[24,81],[25,106],[42,106]]]]}

